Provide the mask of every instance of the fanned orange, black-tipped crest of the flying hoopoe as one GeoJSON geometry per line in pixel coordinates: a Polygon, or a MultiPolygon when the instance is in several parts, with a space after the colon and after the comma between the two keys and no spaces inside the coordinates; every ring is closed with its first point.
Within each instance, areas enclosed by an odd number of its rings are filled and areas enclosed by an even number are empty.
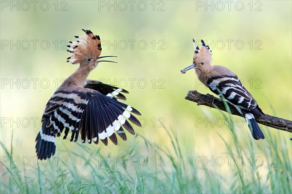
{"type": "Polygon", "coordinates": [[[70,49],[67,50],[71,53],[67,58],[67,62],[71,64],[78,64],[85,57],[96,59],[101,53],[101,42],[99,35],[94,35],[90,30],[84,30],[85,36],[74,36],[77,41],[70,41],[68,45],[70,49]]]}

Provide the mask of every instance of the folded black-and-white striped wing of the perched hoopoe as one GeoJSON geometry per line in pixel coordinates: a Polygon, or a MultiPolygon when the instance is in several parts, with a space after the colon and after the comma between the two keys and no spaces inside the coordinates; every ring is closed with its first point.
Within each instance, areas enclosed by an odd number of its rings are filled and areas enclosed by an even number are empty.
{"type": "Polygon", "coordinates": [[[228,101],[240,108],[253,110],[257,107],[256,100],[241,84],[237,76],[213,77],[208,79],[207,84],[212,92],[220,96],[218,88],[228,101]]]}

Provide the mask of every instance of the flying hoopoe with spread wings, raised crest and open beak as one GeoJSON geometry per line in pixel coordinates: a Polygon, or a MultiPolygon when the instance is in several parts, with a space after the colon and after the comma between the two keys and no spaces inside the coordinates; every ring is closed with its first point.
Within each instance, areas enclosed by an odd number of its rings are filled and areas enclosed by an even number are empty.
{"type": "Polygon", "coordinates": [[[83,31],[86,33],[85,37],[75,36],[77,41],[70,41],[70,50],[67,50],[71,53],[67,62],[79,64],[79,68],[60,85],[44,110],[42,127],[36,138],[37,158],[40,160],[55,154],[55,136],[60,136],[64,128],[63,139],[66,139],[71,129],[70,141],[76,142],[80,133],[82,143],[87,139],[89,144],[92,141],[98,144],[100,139],[107,146],[107,137],[117,145],[115,133],[127,140],[122,126],[131,134],[135,133],[128,120],[141,127],[138,119],[131,113],[141,114],[117,100],[126,99],[120,93],[128,93],[126,90],[100,81],[86,80],[91,70],[100,62],[112,62],[98,59],[114,56],[99,57],[100,37],[90,30],[83,31]]]}

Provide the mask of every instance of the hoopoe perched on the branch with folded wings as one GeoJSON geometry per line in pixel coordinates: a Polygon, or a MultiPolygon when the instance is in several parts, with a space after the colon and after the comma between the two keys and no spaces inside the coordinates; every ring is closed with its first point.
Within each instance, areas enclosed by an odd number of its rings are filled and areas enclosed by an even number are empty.
{"type": "Polygon", "coordinates": [[[254,115],[261,117],[264,113],[258,107],[256,100],[241,84],[237,76],[224,66],[211,65],[212,51],[209,46],[205,45],[201,40],[201,49],[194,43],[194,58],[193,64],[181,70],[185,73],[189,69],[195,69],[199,80],[207,86],[212,92],[221,95],[235,106],[237,111],[244,115],[249,129],[252,132],[254,139],[264,139],[264,134],[258,127],[254,115]],[[220,92],[219,92],[219,91],[220,92]]]}

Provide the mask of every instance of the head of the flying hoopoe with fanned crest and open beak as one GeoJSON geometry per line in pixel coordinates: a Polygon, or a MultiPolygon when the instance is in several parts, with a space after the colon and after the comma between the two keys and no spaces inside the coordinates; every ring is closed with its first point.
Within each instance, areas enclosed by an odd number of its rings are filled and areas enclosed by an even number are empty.
{"type": "MultiPolygon", "coordinates": [[[[80,66],[95,67],[100,62],[113,62],[113,61],[98,61],[98,59],[105,57],[116,56],[103,56],[101,54],[101,42],[99,35],[94,35],[90,30],[82,29],[85,36],[75,36],[77,40],[75,42],[70,41],[71,45],[68,45],[70,49],[67,50],[71,53],[71,56],[67,58],[67,62],[71,64],[80,64],[80,66]]],[[[113,62],[116,63],[116,62],[113,62]]]]}

